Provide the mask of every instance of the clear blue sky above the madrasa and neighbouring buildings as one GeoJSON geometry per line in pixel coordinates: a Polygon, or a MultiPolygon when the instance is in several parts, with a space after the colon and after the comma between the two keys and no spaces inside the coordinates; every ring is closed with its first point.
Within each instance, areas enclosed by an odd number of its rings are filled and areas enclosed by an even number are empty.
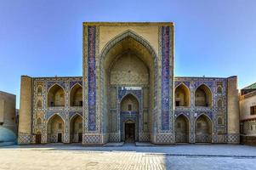
{"type": "Polygon", "coordinates": [[[173,21],[175,76],[256,82],[256,0],[0,0],[0,90],[82,76],[83,21],[173,21]]]}

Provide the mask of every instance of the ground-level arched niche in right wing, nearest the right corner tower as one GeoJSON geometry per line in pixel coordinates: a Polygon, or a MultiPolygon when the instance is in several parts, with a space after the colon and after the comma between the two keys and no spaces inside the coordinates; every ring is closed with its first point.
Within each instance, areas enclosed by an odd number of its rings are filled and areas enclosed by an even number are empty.
{"type": "Polygon", "coordinates": [[[195,124],[196,142],[211,143],[212,142],[212,122],[208,116],[201,115],[196,119],[195,124]]]}

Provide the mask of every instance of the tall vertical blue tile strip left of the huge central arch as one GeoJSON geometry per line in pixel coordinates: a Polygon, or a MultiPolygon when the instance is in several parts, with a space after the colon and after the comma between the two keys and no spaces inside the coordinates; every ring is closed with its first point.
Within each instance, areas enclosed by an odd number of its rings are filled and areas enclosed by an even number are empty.
{"type": "Polygon", "coordinates": [[[88,131],[96,129],[95,36],[96,26],[88,26],[88,131]]]}

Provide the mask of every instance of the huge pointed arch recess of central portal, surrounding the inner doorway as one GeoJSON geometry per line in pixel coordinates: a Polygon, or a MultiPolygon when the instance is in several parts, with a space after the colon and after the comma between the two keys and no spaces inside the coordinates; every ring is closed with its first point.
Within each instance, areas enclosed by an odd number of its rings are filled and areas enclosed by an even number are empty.
{"type": "MultiPolygon", "coordinates": [[[[102,98],[104,129],[109,129],[110,141],[120,142],[124,140],[122,115],[120,114],[121,99],[119,89],[137,88],[140,90],[141,108],[143,111],[140,117],[143,120],[139,133],[146,135],[151,133],[152,125],[155,123],[157,102],[157,58],[156,52],[151,45],[134,33],[126,31],[112,39],[105,45],[100,54],[100,98],[102,98]]],[[[124,92],[126,93],[126,92],[124,92]]],[[[122,98],[122,97],[121,97],[122,98]]],[[[136,131],[136,130],[135,130],[136,131]]],[[[137,131],[136,131],[137,132],[137,131]]],[[[138,140],[139,133],[136,133],[135,140],[138,140]]],[[[149,138],[148,138],[149,139],[149,138]]]]}

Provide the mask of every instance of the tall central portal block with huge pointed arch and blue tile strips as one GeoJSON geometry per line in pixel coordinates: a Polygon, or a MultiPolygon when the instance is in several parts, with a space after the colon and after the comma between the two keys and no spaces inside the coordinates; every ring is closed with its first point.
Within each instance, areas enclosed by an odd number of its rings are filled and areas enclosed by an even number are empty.
{"type": "Polygon", "coordinates": [[[173,23],[86,22],[82,52],[82,144],[174,143],[173,23]]]}

